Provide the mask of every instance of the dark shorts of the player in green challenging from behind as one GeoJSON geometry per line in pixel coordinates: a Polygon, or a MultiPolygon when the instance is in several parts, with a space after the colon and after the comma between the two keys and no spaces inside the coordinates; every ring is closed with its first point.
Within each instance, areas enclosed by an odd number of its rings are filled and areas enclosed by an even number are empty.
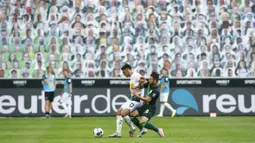
{"type": "Polygon", "coordinates": [[[156,107],[151,107],[148,104],[144,104],[143,106],[137,108],[137,111],[140,116],[145,116],[150,120],[155,115],[156,107]]]}

